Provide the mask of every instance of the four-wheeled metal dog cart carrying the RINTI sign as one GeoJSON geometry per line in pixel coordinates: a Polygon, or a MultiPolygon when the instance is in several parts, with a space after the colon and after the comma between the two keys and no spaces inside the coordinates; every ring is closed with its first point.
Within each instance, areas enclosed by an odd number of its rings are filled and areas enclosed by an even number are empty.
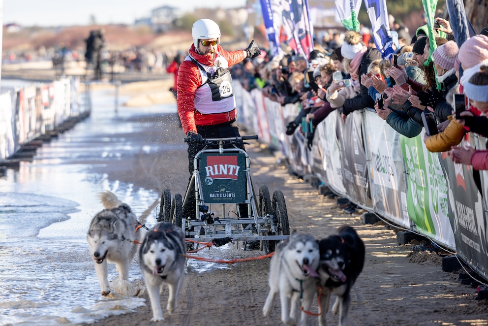
{"type": "Polygon", "coordinates": [[[249,157],[237,146],[251,139],[257,136],[204,138],[184,198],[185,205],[194,201],[195,216],[183,217],[182,196],[171,198],[170,190],[164,189],[158,222],[181,227],[186,239],[217,246],[242,241],[244,249],[249,241],[259,241],[260,250],[274,252],[276,242],[290,234],[285,199],[280,190],[271,197],[265,185],[254,192],[249,157]]]}

